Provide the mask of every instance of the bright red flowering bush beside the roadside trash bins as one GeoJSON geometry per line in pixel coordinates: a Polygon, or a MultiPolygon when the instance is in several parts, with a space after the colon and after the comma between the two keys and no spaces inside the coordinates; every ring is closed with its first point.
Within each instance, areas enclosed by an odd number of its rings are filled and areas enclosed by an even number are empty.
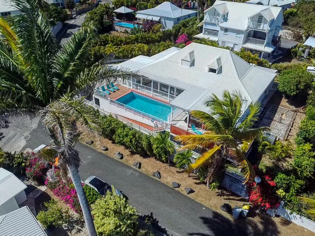
{"type": "Polygon", "coordinates": [[[261,177],[261,182],[248,184],[249,202],[263,210],[278,208],[279,199],[275,188],[276,183],[269,175],[264,175],[258,168],[255,168],[255,171],[256,177],[261,177]]]}

